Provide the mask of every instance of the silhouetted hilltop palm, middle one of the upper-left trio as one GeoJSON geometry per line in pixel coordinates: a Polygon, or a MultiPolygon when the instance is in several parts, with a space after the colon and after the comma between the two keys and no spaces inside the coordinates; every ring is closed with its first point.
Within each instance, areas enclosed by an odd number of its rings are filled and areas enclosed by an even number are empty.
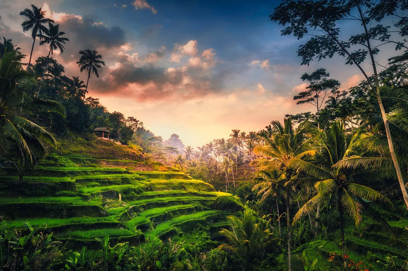
{"type": "MultiPolygon", "coordinates": [[[[53,25],[51,23],[48,23],[48,28],[45,28],[42,31],[42,33],[38,34],[38,37],[40,37],[40,46],[43,44],[49,44],[50,48],[47,56],[47,61],[45,61],[44,72],[42,72],[41,82],[42,79],[44,79],[44,74],[45,70],[47,69],[50,54],[53,55],[54,50],[57,49],[59,49],[60,52],[64,52],[65,47],[62,44],[65,44],[65,42],[69,41],[69,39],[61,37],[62,35],[65,35],[65,32],[60,31],[60,25],[59,24],[53,25]]],[[[37,95],[40,95],[40,90],[41,86],[38,89],[37,95]]]]}

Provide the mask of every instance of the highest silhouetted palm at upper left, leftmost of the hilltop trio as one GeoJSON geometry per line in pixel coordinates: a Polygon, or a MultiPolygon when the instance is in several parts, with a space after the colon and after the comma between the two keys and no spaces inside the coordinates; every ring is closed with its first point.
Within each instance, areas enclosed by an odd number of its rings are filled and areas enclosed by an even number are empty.
{"type": "Polygon", "coordinates": [[[33,55],[35,37],[37,37],[37,35],[41,35],[42,32],[47,29],[43,24],[54,22],[54,20],[45,17],[45,13],[47,13],[47,11],[42,11],[41,10],[42,8],[38,8],[34,5],[31,5],[31,8],[32,10],[24,9],[23,11],[20,11],[21,16],[28,18],[28,20],[25,20],[21,24],[23,32],[31,30],[31,37],[33,38],[33,46],[31,46],[31,53],[30,59],[28,61],[28,66],[30,66],[31,56],[33,55]]]}

